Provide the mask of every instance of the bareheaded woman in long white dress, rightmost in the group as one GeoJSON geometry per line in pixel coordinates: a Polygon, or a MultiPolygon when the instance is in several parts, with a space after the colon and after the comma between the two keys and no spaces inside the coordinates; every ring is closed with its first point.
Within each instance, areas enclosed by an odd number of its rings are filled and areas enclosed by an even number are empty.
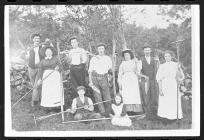
{"type": "MultiPolygon", "coordinates": [[[[184,79],[180,65],[172,61],[172,52],[164,53],[165,63],[159,66],[156,80],[159,83],[158,116],[169,120],[177,119],[177,82],[184,79]]],[[[178,118],[183,118],[181,93],[178,95],[178,118]]]]}

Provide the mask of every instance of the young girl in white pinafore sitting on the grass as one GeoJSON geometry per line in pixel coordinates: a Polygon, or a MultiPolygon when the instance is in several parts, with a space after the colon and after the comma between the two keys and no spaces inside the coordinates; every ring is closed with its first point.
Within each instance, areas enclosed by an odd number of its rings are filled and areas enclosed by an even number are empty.
{"type": "Polygon", "coordinates": [[[114,112],[114,115],[111,114],[112,117],[111,123],[112,125],[118,125],[118,126],[131,126],[132,121],[127,116],[125,105],[122,103],[122,96],[119,94],[116,94],[115,96],[115,104],[112,104],[112,109],[114,112]]]}

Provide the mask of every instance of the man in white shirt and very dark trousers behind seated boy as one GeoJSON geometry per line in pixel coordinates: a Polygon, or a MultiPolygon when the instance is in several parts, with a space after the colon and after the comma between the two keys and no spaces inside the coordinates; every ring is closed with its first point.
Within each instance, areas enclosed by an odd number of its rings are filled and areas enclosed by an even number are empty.
{"type": "Polygon", "coordinates": [[[73,97],[77,96],[76,89],[78,86],[85,86],[85,67],[87,63],[87,53],[83,48],[79,47],[76,36],[69,39],[69,43],[73,47],[68,54],[68,63],[70,63],[70,80],[74,89],[73,97]]]}

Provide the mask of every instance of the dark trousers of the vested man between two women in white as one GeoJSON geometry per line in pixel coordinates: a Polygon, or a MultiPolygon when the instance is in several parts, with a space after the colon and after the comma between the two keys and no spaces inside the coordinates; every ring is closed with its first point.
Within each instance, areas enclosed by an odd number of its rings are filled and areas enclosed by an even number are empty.
{"type": "Polygon", "coordinates": [[[145,93],[145,81],[142,79],[142,82],[140,84],[141,89],[141,97],[142,97],[142,104],[145,112],[147,115],[157,114],[158,109],[158,84],[156,80],[149,80],[149,90],[147,93],[145,93]]]}

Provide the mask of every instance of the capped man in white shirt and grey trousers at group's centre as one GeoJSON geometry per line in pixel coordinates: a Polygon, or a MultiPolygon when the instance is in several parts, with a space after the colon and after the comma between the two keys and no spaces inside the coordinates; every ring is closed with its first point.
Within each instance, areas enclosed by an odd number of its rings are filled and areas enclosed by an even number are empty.
{"type": "MultiPolygon", "coordinates": [[[[111,100],[108,84],[108,71],[112,68],[112,60],[105,55],[106,45],[100,43],[97,45],[98,55],[91,58],[89,65],[89,86],[95,87],[94,97],[96,102],[111,100]]],[[[109,117],[111,113],[111,102],[98,104],[101,115],[109,117]]]]}

